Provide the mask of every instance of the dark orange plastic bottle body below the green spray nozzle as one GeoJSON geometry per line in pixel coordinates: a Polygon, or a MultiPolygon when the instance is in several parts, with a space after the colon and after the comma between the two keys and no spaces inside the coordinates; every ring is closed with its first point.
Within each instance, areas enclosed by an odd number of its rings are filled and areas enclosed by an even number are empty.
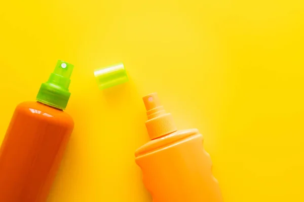
{"type": "Polygon", "coordinates": [[[19,104],[0,148],[0,201],[47,199],[74,123],[38,102],[19,104]]]}

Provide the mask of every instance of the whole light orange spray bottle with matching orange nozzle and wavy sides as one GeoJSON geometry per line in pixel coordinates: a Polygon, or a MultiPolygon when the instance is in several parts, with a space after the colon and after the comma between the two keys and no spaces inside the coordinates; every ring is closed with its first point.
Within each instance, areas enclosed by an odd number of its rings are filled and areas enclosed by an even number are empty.
{"type": "Polygon", "coordinates": [[[177,130],[156,93],[143,97],[151,141],[135,152],[154,202],[222,202],[211,159],[197,129],[177,130]]]}

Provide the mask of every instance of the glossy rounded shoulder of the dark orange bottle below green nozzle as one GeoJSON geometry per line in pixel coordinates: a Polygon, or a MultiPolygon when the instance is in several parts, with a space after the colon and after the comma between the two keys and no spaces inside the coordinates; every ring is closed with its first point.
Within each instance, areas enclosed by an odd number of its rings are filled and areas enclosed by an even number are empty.
{"type": "Polygon", "coordinates": [[[61,110],[41,104],[34,101],[21,102],[15,109],[16,113],[26,114],[27,116],[34,117],[40,120],[53,122],[56,124],[63,124],[68,128],[74,127],[72,117],[61,110]]]}

